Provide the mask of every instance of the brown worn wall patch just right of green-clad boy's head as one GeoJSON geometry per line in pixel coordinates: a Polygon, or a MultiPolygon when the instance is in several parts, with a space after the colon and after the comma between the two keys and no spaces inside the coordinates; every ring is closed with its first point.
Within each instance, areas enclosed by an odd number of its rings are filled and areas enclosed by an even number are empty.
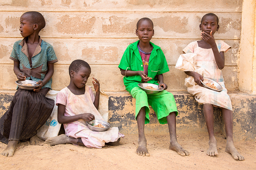
{"type": "Polygon", "coordinates": [[[166,16],[152,19],[154,26],[161,27],[165,32],[174,31],[176,33],[188,33],[186,28],[188,25],[188,18],[181,18],[176,16],[166,16]]]}

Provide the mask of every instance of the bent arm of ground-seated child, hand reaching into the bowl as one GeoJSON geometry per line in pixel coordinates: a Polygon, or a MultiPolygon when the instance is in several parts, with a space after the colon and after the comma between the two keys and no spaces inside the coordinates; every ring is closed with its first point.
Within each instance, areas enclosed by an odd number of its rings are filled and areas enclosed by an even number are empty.
{"type": "Polygon", "coordinates": [[[60,103],[58,104],[58,122],[60,124],[74,122],[79,119],[83,119],[85,121],[94,120],[94,115],[92,115],[91,113],[84,113],[84,114],[79,114],[74,116],[64,116],[65,107],[66,107],[65,105],[62,105],[60,103]]]}

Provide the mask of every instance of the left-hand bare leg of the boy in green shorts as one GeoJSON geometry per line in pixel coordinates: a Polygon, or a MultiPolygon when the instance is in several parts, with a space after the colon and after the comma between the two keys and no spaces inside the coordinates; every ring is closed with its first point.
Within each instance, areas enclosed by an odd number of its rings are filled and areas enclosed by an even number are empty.
{"type": "Polygon", "coordinates": [[[140,156],[150,156],[147,149],[147,139],[144,133],[145,127],[145,107],[142,107],[137,115],[137,124],[138,124],[138,132],[139,132],[139,139],[138,139],[138,148],[136,153],[140,156]]]}

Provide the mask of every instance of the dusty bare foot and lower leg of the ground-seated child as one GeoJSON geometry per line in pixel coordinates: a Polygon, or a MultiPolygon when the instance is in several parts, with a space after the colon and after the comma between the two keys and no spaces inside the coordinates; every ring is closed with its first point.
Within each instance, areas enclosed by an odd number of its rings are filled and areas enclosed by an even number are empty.
{"type": "Polygon", "coordinates": [[[81,138],[74,138],[74,137],[67,137],[65,134],[61,134],[56,137],[51,137],[49,139],[46,139],[45,144],[50,144],[51,146],[57,145],[57,144],[78,144],[80,146],[84,146],[81,138]]]}

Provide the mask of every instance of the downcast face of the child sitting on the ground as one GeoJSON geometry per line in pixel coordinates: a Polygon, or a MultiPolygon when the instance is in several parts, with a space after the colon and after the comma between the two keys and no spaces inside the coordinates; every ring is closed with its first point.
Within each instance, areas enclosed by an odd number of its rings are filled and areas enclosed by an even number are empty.
{"type": "Polygon", "coordinates": [[[90,77],[91,69],[82,67],[78,72],[70,71],[70,75],[73,77],[73,83],[77,88],[83,88],[90,77]]]}

